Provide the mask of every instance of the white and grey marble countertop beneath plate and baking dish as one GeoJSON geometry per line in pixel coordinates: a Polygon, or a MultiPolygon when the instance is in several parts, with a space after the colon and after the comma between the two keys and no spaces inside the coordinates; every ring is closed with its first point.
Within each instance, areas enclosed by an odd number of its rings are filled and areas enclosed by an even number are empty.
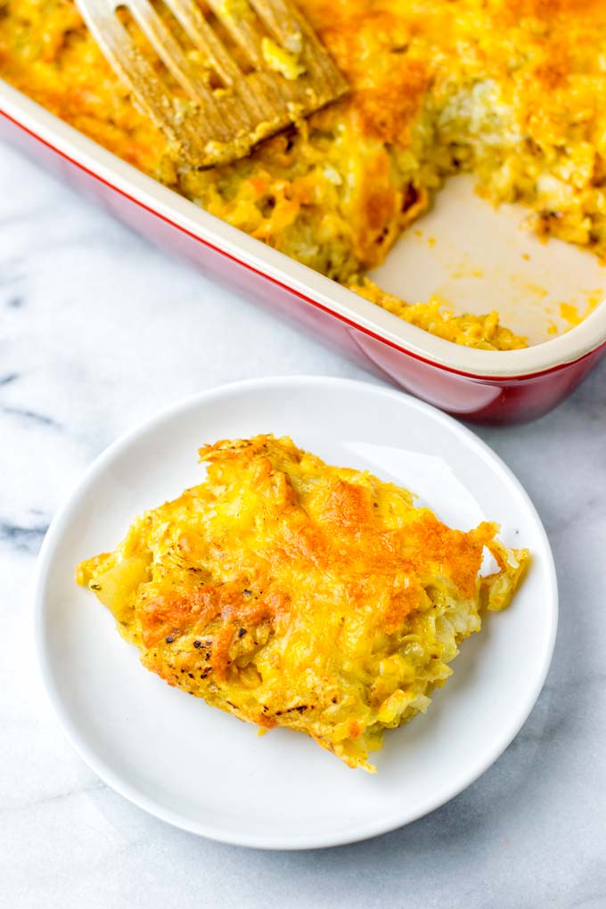
{"type": "Polygon", "coordinates": [[[254,852],[114,794],[35,667],[35,555],[95,455],[212,385],[377,379],[163,255],[0,145],[0,903],[11,909],[606,906],[606,362],[540,421],[478,431],[551,539],[561,624],[510,748],[442,809],[362,844],[254,852]]]}

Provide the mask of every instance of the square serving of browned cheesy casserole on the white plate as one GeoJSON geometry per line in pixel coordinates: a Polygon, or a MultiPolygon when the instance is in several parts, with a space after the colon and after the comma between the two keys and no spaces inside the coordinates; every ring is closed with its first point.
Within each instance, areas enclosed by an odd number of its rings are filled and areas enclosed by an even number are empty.
{"type": "Polygon", "coordinates": [[[482,604],[508,604],[527,553],[290,439],[201,450],[206,481],[78,572],[147,668],[264,728],[305,732],[351,766],[450,674],[482,604]],[[485,549],[498,570],[482,577],[485,549]]]}

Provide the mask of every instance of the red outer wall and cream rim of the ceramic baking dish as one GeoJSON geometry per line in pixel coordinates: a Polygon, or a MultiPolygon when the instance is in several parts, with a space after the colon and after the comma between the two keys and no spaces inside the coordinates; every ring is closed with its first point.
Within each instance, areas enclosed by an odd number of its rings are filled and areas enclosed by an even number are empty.
{"type": "Polygon", "coordinates": [[[606,354],[604,304],[566,334],[522,350],[454,345],[209,215],[1,80],[0,114],[0,136],[156,245],[453,415],[484,423],[531,420],[569,395],[606,354]]]}

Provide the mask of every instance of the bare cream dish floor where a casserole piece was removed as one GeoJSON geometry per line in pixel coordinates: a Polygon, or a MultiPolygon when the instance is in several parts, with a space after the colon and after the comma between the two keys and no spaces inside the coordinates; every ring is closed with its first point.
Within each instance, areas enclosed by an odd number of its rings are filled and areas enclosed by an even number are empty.
{"type": "Polygon", "coordinates": [[[606,298],[606,267],[577,246],[541,242],[528,209],[496,209],[474,185],[452,177],[369,277],[409,303],[436,295],[456,314],[497,310],[532,345],[569,331],[606,298]]]}

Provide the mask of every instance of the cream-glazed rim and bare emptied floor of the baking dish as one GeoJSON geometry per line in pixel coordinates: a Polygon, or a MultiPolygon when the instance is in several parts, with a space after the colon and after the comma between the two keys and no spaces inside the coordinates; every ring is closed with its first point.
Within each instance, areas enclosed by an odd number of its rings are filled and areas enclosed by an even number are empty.
{"type": "MultiPolygon", "coordinates": [[[[473,194],[471,178],[450,181],[432,212],[402,236],[372,276],[385,290],[412,302],[435,293],[456,312],[498,309],[505,325],[528,335],[531,342],[539,342],[529,348],[508,352],[473,350],[406,324],[306,265],[209,215],[2,80],[0,111],[175,225],[313,299],[335,315],[450,369],[487,377],[527,375],[576,360],[606,341],[606,305],[596,305],[606,290],[606,269],[591,254],[569,245],[553,240],[541,244],[521,226],[527,214],[524,209],[507,205],[495,212],[473,194]],[[550,332],[561,331],[567,324],[562,319],[561,304],[576,307],[580,315],[594,308],[580,325],[545,340],[551,337],[550,332]]],[[[570,316],[569,311],[564,312],[570,316]]]]}

